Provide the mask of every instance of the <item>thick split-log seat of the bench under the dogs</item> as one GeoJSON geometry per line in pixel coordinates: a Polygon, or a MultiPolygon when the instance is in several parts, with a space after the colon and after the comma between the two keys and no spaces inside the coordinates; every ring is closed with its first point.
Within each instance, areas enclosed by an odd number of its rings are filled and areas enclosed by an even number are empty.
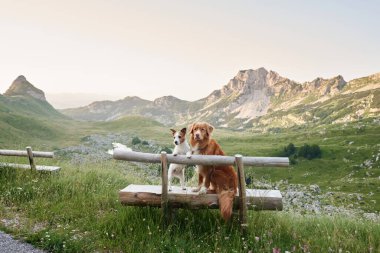
{"type": "MultiPolygon", "coordinates": [[[[161,185],[134,185],[130,184],[120,190],[120,202],[128,206],[161,207],[161,185]]],[[[219,208],[216,194],[201,194],[192,192],[188,187],[182,190],[179,186],[172,186],[168,194],[170,207],[173,208],[219,208]]],[[[246,190],[247,208],[251,210],[282,210],[282,195],[278,190],[246,190]]],[[[234,208],[239,206],[239,195],[234,200],[234,208]]]]}

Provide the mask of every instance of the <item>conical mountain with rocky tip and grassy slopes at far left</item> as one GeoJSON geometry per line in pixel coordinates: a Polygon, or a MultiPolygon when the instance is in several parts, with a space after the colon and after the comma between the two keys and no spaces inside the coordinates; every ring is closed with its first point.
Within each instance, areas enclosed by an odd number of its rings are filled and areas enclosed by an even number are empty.
{"type": "Polygon", "coordinates": [[[68,118],[55,110],[43,91],[18,77],[0,95],[0,145],[25,143],[31,137],[50,140],[60,135],[68,118]]]}

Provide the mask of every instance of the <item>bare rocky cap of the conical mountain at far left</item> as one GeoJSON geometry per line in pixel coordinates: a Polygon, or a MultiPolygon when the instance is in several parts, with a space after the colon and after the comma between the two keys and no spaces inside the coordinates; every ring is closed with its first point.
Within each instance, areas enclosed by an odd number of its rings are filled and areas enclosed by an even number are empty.
{"type": "Polygon", "coordinates": [[[36,88],[33,84],[26,80],[25,76],[20,75],[13,81],[8,90],[4,93],[5,96],[26,96],[38,100],[46,101],[45,93],[36,88]]]}

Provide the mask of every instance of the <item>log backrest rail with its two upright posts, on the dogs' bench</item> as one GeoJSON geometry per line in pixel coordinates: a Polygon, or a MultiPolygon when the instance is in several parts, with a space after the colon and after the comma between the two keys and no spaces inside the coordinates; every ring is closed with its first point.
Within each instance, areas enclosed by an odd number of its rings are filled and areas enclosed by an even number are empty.
{"type": "Polygon", "coordinates": [[[247,199],[245,188],[244,165],[255,167],[288,167],[287,157],[243,157],[241,155],[217,156],[217,155],[192,155],[191,158],[185,155],[174,156],[172,154],[150,154],[128,151],[125,149],[114,149],[113,158],[116,160],[161,163],[162,191],[161,191],[161,210],[163,220],[168,217],[168,163],[187,164],[187,165],[236,165],[238,173],[239,187],[239,219],[242,229],[247,228],[247,199]]]}

